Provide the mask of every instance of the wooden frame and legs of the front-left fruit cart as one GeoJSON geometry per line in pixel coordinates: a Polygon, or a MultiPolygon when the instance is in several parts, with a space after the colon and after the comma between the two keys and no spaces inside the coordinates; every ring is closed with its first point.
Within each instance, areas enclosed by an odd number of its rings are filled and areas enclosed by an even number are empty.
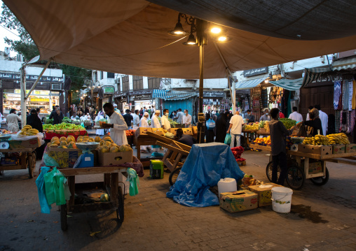
{"type": "MultiPolygon", "coordinates": [[[[109,210],[115,208],[119,222],[124,219],[124,194],[123,189],[118,186],[118,173],[125,173],[127,168],[121,166],[100,166],[89,168],[64,168],[60,171],[68,179],[71,197],[67,204],[60,206],[60,222],[63,231],[67,230],[67,213],[81,213],[95,210],[109,210]],[[104,175],[104,182],[77,183],[76,175],[100,174],[104,175]],[[110,201],[93,203],[76,203],[75,196],[81,196],[84,190],[101,187],[110,196],[110,201]]],[[[125,185],[124,185],[125,189],[125,185]]],[[[83,197],[83,196],[82,196],[83,197]]]]}

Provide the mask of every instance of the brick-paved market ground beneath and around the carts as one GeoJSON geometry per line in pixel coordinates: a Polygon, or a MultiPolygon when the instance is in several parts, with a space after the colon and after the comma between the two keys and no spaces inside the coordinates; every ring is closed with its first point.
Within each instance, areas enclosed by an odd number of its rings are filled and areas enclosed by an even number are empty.
{"type": "MultiPolygon", "coordinates": [[[[246,152],[242,171],[266,181],[266,152],[246,152]]],[[[35,179],[27,170],[0,176],[2,250],[356,250],[356,172],[354,166],[327,164],[330,180],[309,180],[294,191],[292,212],[258,208],[226,213],[219,206],[189,208],[165,197],[163,180],[140,178],[135,197],[125,197],[125,221],[102,211],[73,214],[60,230],[60,215],[40,212],[35,179]],[[90,233],[100,231],[95,236],[90,233]]],[[[78,181],[102,179],[86,175],[78,181]]]]}

